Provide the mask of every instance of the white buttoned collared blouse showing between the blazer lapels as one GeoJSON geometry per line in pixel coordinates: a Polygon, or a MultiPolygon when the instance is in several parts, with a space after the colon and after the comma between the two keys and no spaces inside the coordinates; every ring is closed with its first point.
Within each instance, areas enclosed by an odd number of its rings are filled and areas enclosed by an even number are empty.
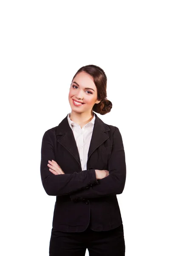
{"type": "Polygon", "coordinates": [[[94,117],[84,125],[82,128],[77,123],[70,119],[70,113],[68,113],[68,123],[73,131],[74,138],[76,140],[77,148],[79,151],[79,157],[81,161],[82,171],[87,170],[88,150],[91,142],[91,136],[94,128],[94,117]]]}

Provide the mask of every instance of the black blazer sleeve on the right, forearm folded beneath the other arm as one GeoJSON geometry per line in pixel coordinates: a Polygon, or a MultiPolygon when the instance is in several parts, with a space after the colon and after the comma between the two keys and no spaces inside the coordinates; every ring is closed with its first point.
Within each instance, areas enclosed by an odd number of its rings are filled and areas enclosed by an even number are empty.
{"type": "MultiPolygon", "coordinates": [[[[99,198],[110,194],[121,194],[125,187],[126,163],[125,151],[119,128],[113,133],[113,149],[108,160],[109,175],[98,180],[98,184],[70,195],[71,201],[84,198],[99,198]]],[[[86,172],[86,171],[85,171],[86,172]]]]}

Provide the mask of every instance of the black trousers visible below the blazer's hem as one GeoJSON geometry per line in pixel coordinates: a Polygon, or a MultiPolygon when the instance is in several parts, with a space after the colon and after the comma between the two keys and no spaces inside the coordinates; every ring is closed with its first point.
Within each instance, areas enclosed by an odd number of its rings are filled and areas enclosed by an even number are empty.
{"type": "Polygon", "coordinates": [[[123,224],[113,230],[61,232],[51,230],[49,256],[125,256],[123,224]]]}

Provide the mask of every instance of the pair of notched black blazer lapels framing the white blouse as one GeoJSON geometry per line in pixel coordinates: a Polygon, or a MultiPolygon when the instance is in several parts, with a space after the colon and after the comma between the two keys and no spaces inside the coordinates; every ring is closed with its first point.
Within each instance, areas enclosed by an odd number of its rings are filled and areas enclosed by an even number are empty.
{"type": "MultiPolygon", "coordinates": [[[[95,114],[94,129],[91,137],[90,147],[88,151],[88,159],[93,151],[98,148],[102,143],[109,138],[106,131],[110,131],[108,125],[106,125],[97,115],[95,114]]],[[[68,115],[67,115],[68,116],[68,115]]],[[[76,140],[74,138],[73,131],[71,130],[67,116],[59,123],[56,130],[57,142],[60,143],[66,150],[68,150],[72,156],[77,160],[81,166],[79,151],[77,148],[76,140]]]]}

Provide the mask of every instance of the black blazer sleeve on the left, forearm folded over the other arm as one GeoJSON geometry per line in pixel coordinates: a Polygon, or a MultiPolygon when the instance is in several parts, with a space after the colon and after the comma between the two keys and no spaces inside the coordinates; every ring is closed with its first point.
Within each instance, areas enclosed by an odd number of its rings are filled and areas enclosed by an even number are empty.
{"type": "Polygon", "coordinates": [[[93,183],[98,183],[95,169],[89,169],[88,172],[54,175],[49,171],[48,160],[55,160],[55,154],[52,139],[48,131],[45,131],[42,137],[40,175],[48,195],[69,195],[93,183]]]}

